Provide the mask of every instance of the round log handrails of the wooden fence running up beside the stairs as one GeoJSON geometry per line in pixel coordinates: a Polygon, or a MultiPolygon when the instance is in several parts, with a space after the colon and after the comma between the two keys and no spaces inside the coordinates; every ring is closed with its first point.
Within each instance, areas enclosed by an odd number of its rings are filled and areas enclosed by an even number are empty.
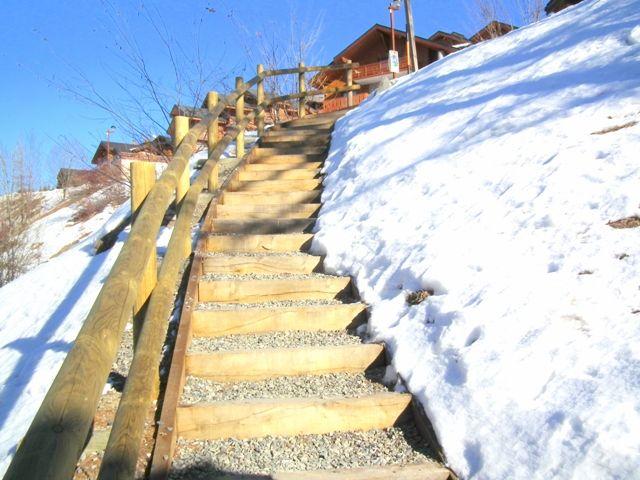
{"type": "MultiPolygon", "coordinates": [[[[292,99],[304,101],[307,97],[328,93],[327,90],[331,90],[333,94],[346,92],[352,105],[352,92],[359,87],[350,82],[350,72],[356,66],[300,66],[293,69],[262,71],[248,82],[239,81],[236,90],[219,102],[208,102],[208,113],[181,139],[172,161],[153,185],[138,211],[129,237],[19,445],[4,477],[5,480],[66,480],[73,476],[76,463],[87,441],[104,383],[116,356],[124,326],[132,316],[148,259],[155,255],[162,219],[174,198],[179,199],[174,197],[174,192],[180,189],[181,179],[184,178],[185,172],[188,173],[189,159],[196,150],[198,139],[208,131],[208,160],[180,200],[174,230],[157,283],[149,298],[123,396],[101,465],[101,479],[134,478],[145,416],[152,397],[157,393],[158,362],[166,319],[174,302],[174,285],[181,266],[191,255],[190,232],[199,194],[207,185],[210,189],[218,187],[218,162],[225,148],[234,139],[239,144],[248,123],[254,118],[260,118],[264,109],[271,103],[292,99]],[[268,101],[260,99],[263,101],[256,110],[241,119],[220,141],[211,135],[214,131],[212,125],[217,122],[223,109],[229,105],[240,104],[244,94],[255,85],[258,86],[259,92],[264,91],[262,83],[266,77],[300,75],[322,70],[345,70],[347,87],[302,91],[271,98],[268,101]]],[[[211,98],[217,99],[217,95],[211,98]]]]}

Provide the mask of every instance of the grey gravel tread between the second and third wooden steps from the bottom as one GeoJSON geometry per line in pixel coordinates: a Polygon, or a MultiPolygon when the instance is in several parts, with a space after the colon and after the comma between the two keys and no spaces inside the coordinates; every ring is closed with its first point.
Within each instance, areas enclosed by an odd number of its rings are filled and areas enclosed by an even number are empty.
{"type": "Polygon", "coordinates": [[[380,367],[366,373],[329,373],[232,383],[188,377],[181,401],[192,404],[252,398],[363,397],[389,391],[381,383],[384,372],[385,368],[380,367]]]}

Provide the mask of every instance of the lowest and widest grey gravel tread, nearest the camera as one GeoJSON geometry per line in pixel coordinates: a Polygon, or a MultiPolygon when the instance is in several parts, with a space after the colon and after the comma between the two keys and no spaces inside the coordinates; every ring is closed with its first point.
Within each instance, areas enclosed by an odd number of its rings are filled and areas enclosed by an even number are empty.
{"type": "Polygon", "coordinates": [[[224,474],[328,470],[430,461],[412,425],[327,435],[251,440],[179,440],[169,478],[211,479],[224,474]]]}

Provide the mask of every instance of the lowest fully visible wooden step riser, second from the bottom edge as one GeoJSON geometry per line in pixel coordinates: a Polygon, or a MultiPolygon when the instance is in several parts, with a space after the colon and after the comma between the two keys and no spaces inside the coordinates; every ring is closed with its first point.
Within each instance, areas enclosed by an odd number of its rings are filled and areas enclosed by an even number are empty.
{"type": "Polygon", "coordinates": [[[178,435],[187,439],[258,438],[366,431],[411,418],[411,395],[359,398],[240,400],[178,407],[178,435]]]}

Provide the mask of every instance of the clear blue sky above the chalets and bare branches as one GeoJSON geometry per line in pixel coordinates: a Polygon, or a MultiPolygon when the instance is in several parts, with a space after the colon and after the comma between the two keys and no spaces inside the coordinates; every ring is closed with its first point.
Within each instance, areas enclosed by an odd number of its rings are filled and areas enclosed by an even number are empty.
{"type": "MultiPolygon", "coordinates": [[[[473,33],[477,27],[470,13],[474,1],[413,0],[416,33],[473,33]]],[[[372,24],[388,24],[387,5],[388,0],[41,0],[35,7],[33,2],[3,0],[0,98],[5,114],[0,117],[0,146],[11,149],[32,135],[44,154],[63,138],[77,140],[92,151],[108,127],[118,127],[118,119],[60,86],[70,83],[86,92],[79,81],[83,76],[106,99],[124,101],[117,83],[132,84],[122,57],[126,49],[120,49],[123,37],[135,40],[154,78],[172,85],[167,50],[146,20],[149,16],[159,19],[156,27],[166,38],[180,38],[189,50],[184,52],[187,56],[199,46],[211,74],[210,88],[221,90],[220,79],[225,75],[252,76],[254,65],[246,55],[251,36],[269,28],[286,31],[291,11],[307,25],[324,19],[313,56],[327,63],[372,24]],[[238,35],[238,25],[246,30],[243,35],[238,35]]],[[[404,14],[397,18],[403,27],[404,14]]],[[[116,129],[113,139],[129,141],[126,131],[116,129]]]]}

